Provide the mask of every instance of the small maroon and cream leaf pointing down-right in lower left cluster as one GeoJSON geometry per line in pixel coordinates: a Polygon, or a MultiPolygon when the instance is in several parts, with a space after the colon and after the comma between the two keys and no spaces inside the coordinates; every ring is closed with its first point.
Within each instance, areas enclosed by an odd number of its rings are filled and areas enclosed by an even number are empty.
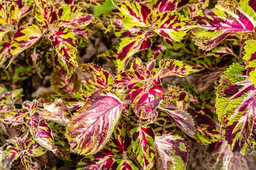
{"type": "Polygon", "coordinates": [[[34,140],[40,144],[40,146],[56,153],[57,148],[54,146],[52,129],[48,124],[40,122],[38,128],[34,132],[31,129],[29,130],[34,140]]]}

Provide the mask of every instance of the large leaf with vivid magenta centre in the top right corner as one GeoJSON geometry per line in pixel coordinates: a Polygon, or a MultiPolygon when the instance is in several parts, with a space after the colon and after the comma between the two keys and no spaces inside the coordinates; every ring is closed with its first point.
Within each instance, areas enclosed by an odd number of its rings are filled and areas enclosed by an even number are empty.
{"type": "Polygon", "coordinates": [[[200,27],[193,30],[195,44],[211,50],[229,35],[251,32],[256,26],[255,3],[251,1],[218,1],[211,10],[194,18],[200,27]]]}

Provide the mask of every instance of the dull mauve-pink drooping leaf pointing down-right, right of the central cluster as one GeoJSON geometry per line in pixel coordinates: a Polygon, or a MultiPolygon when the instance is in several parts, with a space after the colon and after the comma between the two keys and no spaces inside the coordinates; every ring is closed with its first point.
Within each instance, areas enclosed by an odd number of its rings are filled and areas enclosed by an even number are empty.
{"type": "Polygon", "coordinates": [[[194,138],[195,135],[195,123],[192,116],[183,110],[169,110],[167,107],[158,106],[160,110],[167,113],[173,118],[175,124],[189,137],[194,138]]]}

